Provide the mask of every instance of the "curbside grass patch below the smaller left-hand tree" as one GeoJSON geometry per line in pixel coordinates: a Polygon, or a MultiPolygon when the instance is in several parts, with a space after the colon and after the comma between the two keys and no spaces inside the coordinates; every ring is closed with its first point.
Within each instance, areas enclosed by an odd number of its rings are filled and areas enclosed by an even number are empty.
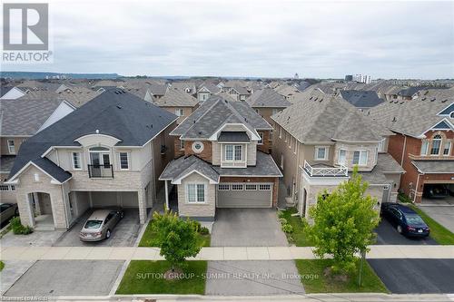
{"type": "Polygon", "coordinates": [[[185,278],[166,280],[163,274],[170,269],[167,261],[133,260],[126,270],[116,294],[199,294],[205,293],[207,261],[186,261],[185,278]]]}

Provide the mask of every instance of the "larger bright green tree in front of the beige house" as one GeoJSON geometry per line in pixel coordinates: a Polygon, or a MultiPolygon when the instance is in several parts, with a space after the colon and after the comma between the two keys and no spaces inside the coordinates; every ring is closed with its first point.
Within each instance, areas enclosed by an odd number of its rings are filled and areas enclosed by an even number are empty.
{"type": "Polygon", "coordinates": [[[373,209],[377,200],[364,193],[369,184],[362,182],[358,169],[350,180],[330,194],[319,194],[317,205],[310,209],[313,225],[310,237],[315,254],[333,258],[333,272],[350,272],[355,268],[356,256],[369,250],[374,239],[372,232],[379,223],[379,212],[373,209]]]}

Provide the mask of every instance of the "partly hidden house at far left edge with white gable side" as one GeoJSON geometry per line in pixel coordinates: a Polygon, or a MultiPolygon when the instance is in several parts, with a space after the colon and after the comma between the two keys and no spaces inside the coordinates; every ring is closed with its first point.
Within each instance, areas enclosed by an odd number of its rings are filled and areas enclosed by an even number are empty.
{"type": "Polygon", "coordinates": [[[74,111],[74,106],[57,100],[0,101],[0,199],[15,202],[15,185],[6,184],[22,143],[36,132],[74,111]]]}

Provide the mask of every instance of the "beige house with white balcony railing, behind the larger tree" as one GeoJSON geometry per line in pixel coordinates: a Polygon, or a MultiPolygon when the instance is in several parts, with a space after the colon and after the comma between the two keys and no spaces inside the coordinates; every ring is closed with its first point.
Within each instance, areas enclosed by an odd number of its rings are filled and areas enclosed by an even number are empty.
{"type": "Polygon", "coordinates": [[[354,166],[379,204],[396,200],[404,170],[387,153],[393,133],[349,102],[315,92],[271,119],[272,156],[282,170],[287,204],[297,204],[301,216],[308,217],[319,193],[349,180],[354,166]]]}

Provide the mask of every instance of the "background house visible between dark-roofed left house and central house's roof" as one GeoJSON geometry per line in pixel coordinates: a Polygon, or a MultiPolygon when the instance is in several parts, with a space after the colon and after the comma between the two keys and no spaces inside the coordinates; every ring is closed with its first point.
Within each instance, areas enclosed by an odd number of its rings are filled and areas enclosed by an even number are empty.
{"type": "Polygon", "coordinates": [[[177,123],[181,123],[192,114],[199,101],[191,94],[170,87],[162,98],[155,99],[153,103],[178,116],[177,123]]]}

